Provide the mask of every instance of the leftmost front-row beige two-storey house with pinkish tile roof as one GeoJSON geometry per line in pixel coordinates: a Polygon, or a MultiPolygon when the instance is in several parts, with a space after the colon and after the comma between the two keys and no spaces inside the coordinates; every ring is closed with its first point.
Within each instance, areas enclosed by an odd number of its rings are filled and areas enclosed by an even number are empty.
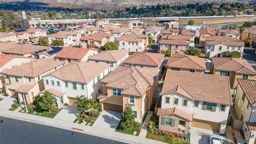
{"type": "Polygon", "coordinates": [[[23,101],[22,94],[28,104],[32,103],[38,92],[44,90],[44,81],[42,76],[48,74],[65,65],[66,62],[55,61],[49,58],[40,58],[26,64],[4,70],[6,93],[9,95],[18,95],[20,102],[23,101]]]}

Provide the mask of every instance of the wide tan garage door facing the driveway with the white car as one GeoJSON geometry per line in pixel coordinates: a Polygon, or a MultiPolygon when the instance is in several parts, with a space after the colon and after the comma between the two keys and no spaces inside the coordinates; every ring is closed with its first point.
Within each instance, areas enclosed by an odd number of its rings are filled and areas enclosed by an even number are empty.
{"type": "Polygon", "coordinates": [[[191,122],[191,126],[197,127],[197,128],[204,128],[207,130],[213,130],[213,131],[220,131],[220,123],[217,122],[209,122],[205,120],[198,120],[193,119],[193,122],[191,122]]]}

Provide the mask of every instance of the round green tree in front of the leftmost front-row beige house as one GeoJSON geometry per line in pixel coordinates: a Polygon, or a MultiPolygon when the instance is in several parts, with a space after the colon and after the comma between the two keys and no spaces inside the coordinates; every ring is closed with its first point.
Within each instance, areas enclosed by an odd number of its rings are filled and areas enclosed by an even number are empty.
{"type": "Polygon", "coordinates": [[[56,104],[57,100],[54,98],[52,93],[46,91],[44,95],[38,96],[36,102],[42,110],[48,110],[48,112],[51,112],[51,109],[54,107],[54,104],[56,104]]]}

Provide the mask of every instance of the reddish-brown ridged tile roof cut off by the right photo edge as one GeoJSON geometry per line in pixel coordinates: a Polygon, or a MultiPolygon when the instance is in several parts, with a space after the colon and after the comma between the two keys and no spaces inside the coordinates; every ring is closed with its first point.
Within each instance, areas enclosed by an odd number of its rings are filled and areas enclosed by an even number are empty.
{"type": "Polygon", "coordinates": [[[237,79],[250,105],[256,107],[256,80],[237,79]]]}

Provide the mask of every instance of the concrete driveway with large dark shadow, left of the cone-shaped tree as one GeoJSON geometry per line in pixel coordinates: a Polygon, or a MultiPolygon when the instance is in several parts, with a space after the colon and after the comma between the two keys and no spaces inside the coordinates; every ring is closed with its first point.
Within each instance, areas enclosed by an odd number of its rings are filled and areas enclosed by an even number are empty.
{"type": "Polygon", "coordinates": [[[121,112],[103,110],[92,126],[115,131],[116,127],[119,124],[120,118],[121,118],[121,112]]]}

